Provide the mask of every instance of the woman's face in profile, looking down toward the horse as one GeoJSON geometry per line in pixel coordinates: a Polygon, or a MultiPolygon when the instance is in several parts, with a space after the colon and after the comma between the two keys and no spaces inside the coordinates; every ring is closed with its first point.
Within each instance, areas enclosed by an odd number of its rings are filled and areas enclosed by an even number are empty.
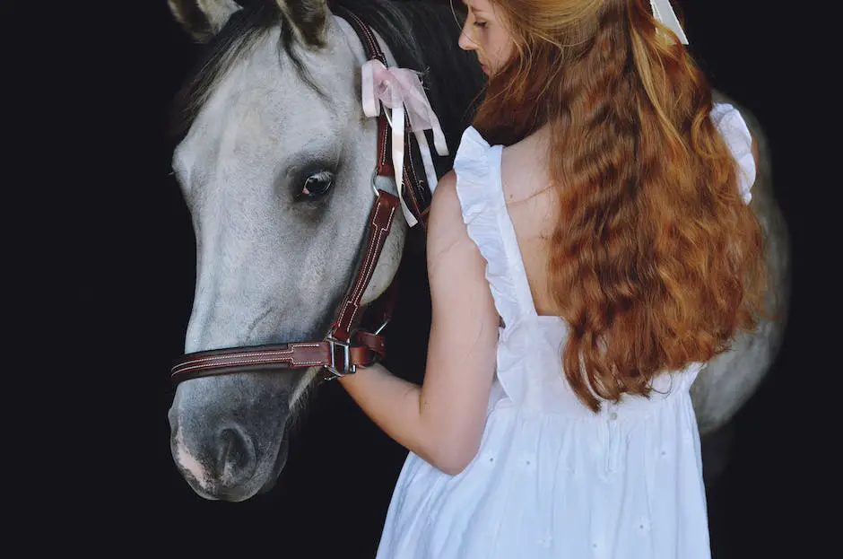
{"type": "MultiPolygon", "coordinates": [[[[455,0],[457,1],[457,0],[455,0]]],[[[468,7],[459,46],[474,50],[486,75],[500,70],[512,55],[513,41],[490,0],[459,0],[468,7]]]]}

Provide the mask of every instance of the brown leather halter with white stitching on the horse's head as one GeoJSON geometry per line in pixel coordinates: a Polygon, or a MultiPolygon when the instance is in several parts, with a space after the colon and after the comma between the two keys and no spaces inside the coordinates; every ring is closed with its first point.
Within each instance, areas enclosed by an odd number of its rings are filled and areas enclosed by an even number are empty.
{"type": "MultiPolygon", "coordinates": [[[[385,66],[387,58],[378,46],[369,27],[357,15],[342,9],[344,19],[352,25],[361,39],[366,56],[378,58],[385,66]]],[[[320,381],[333,380],[346,374],[352,374],[358,366],[369,366],[378,362],[386,354],[381,331],[387,326],[392,316],[395,303],[397,282],[387,288],[387,292],[375,301],[378,312],[378,327],[367,331],[361,328],[361,297],[369,285],[378,259],[384,248],[389,231],[392,228],[398,198],[375,186],[377,176],[393,177],[394,170],[390,156],[390,134],[386,111],[378,117],[378,164],[372,175],[372,189],[375,201],[369,214],[368,231],[363,245],[362,258],[358,262],[356,274],[351,286],[336,312],[331,328],[322,340],[309,342],[288,342],[276,345],[251,345],[208,350],[182,355],[171,369],[171,380],[178,384],[185,380],[222,374],[234,374],[253,371],[285,371],[320,367],[320,381]]],[[[430,189],[424,179],[415,172],[413,161],[418,153],[418,144],[410,132],[409,120],[404,127],[404,200],[410,211],[424,227],[427,210],[430,208],[430,189]]],[[[423,176],[423,175],[422,175],[423,176]]]]}

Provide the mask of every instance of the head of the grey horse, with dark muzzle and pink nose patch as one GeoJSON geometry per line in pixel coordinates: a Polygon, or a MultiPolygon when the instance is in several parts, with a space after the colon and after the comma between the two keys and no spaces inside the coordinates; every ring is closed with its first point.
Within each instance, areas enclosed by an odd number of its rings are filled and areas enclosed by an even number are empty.
{"type": "MultiPolygon", "coordinates": [[[[373,22],[388,66],[413,64],[436,81],[462,65],[465,92],[431,100],[440,115],[464,117],[481,77],[456,50],[453,19],[439,31],[438,40],[451,41],[454,50],[443,66],[422,60],[413,45],[415,20],[397,4],[359,4],[351,8],[368,14],[361,18],[373,22]]],[[[185,90],[187,131],[172,160],[196,234],[185,353],[322,339],[361,258],[373,187],[397,195],[395,180],[373,178],[378,120],[361,108],[367,61],[361,39],[326,0],[248,6],[169,0],[169,6],[192,37],[210,43],[185,90]]],[[[436,10],[438,22],[448,22],[443,13],[453,17],[447,6],[436,10]]],[[[450,156],[437,160],[439,176],[452,161],[460,124],[443,119],[450,156]]],[[[362,306],[392,283],[407,231],[396,218],[362,306]]],[[[242,501],[274,485],[287,458],[287,427],[319,369],[178,384],[169,409],[171,450],[196,493],[242,501]]]]}

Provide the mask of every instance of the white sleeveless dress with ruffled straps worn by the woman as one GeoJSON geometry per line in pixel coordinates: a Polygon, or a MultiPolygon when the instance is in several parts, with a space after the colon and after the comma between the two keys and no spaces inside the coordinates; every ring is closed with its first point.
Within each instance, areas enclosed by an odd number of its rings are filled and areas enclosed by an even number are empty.
{"type": "MultiPolygon", "coordinates": [[[[755,179],[749,130],[729,105],[717,105],[712,118],[748,202],[755,179]]],[[[534,309],[504,203],[500,153],[469,127],[454,163],[468,234],[487,261],[506,325],[480,450],[457,476],[408,455],[378,559],[709,559],[689,393],[702,365],[663,375],[650,399],[604,403],[597,415],[580,403],[561,371],[566,324],[534,309]]]]}

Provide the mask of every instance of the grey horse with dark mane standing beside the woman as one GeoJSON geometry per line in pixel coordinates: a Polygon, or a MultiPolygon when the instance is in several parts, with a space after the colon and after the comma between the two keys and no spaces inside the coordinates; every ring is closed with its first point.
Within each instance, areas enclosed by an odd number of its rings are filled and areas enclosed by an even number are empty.
{"type": "MultiPolygon", "coordinates": [[[[207,43],[180,98],[183,137],[172,159],[196,234],[185,354],[323,339],[366,243],[373,188],[399,194],[388,174],[373,179],[380,138],[376,119],[361,109],[367,55],[352,20],[371,30],[387,66],[423,75],[448,146],[448,154],[433,154],[441,177],[484,79],[474,57],[457,47],[460,8],[401,0],[168,1],[191,37],[207,43]]],[[[766,136],[751,111],[715,94],[742,111],[759,144],[751,204],[776,316],[737,336],[695,381],[704,456],[708,438],[725,432],[775,361],[790,289],[787,225],[771,188],[766,136]]],[[[385,330],[392,344],[386,364],[416,381],[430,326],[420,231],[399,214],[360,299],[366,308],[400,282],[385,330]]],[[[322,370],[276,366],[178,383],[170,449],[190,488],[227,502],[271,491],[322,370]]],[[[343,417],[332,422],[342,425],[343,417]]],[[[383,466],[387,477],[393,466],[383,466]]]]}

